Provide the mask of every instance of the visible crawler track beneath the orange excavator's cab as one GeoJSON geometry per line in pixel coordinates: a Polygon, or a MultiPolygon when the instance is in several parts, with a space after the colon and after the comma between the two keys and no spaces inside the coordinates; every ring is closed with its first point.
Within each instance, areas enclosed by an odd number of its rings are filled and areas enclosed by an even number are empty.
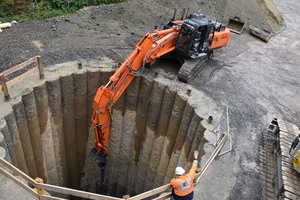
{"type": "Polygon", "coordinates": [[[192,78],[197,76],[198,72],[202,69],[208,59],[209,56],[207,54],[203,54],[198,58],[187,59],[177,74],[178,80],[189,83],[192,78]]]}

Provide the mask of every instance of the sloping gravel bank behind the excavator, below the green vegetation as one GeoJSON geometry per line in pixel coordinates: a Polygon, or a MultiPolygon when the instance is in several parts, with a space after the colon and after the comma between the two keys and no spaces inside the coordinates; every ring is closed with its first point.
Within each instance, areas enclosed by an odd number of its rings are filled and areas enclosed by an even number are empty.
{"type": "MultiPolygon", "coordinates": [[[[247,26],[278,31],[282,17],[272,8],[272,0],[238,2],[228,0],[130,0],[120,4],[83,8],[71,15],[47,20],[22,22],[0,34],[0,72],[36,55],[45,66],[79,59],[113,57],[132,49],[155,25],[171,19],[171,7],[188,7],[189,13],[202,13],[226,23],[229,16],[240,16],[247,26]],[[270,9],[275,15],[269,17],[270,9]],[[241,12],[242,11],[242,12],[241,12]],[[121,50],[121,51],[120,51],[121,50]]],[[[120,61],[120,59],[118,60],[120,61]]]]}

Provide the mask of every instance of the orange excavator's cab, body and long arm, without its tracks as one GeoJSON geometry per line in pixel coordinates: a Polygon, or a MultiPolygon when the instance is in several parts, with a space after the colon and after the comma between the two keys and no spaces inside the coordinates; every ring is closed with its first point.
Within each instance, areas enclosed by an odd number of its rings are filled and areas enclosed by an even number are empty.
{"type": "MultiPolygon", "coordinates": [[[[201,10],[200,10],[201,11],[201,10]]],[[[91,154],[105,166],[112,123],[112,107],[135,76],[143,73],[145,64],[169,53],[177,58],[197,59],[200,54],[227,46],[230,31],[225,25],[207,19],[198,11],[187,19],[172,19],[163,30],[147,33],[119,69],[101,86],[94,98],[93,126],[95,147],[91,154]]]]}

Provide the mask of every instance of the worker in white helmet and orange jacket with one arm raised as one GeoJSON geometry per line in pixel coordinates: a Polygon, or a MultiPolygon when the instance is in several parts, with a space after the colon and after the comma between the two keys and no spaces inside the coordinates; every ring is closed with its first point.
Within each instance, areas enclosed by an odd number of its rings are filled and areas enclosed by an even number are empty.
{"type": "Polygon", "coordinates": [[[193,180],[198,166],[199,152],[194,151],[194,162],[189,171],[185,174],[182,167],[176,167],[176,178],[171,180],[173,187],[171,200],[191,200],[194,197],[193,180]]]}

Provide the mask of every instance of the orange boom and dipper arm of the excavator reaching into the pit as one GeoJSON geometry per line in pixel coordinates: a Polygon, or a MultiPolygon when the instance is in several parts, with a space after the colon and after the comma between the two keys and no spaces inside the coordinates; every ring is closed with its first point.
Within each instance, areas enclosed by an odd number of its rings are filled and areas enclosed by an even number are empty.
{"type": "Polygon", "coordinates": [[[95,148],[92,149],[91,153],[100,162],[105,163],[107,160],[112,106],[132,79],[141,75],[145,63],[175,50],[179,30],[179,26],[174,26],[167,30],[156,30],[153,34],[147,33],[120,68],[109,78],[109,82],[98,89],[94,98],[92,118],[95,148]]]}

